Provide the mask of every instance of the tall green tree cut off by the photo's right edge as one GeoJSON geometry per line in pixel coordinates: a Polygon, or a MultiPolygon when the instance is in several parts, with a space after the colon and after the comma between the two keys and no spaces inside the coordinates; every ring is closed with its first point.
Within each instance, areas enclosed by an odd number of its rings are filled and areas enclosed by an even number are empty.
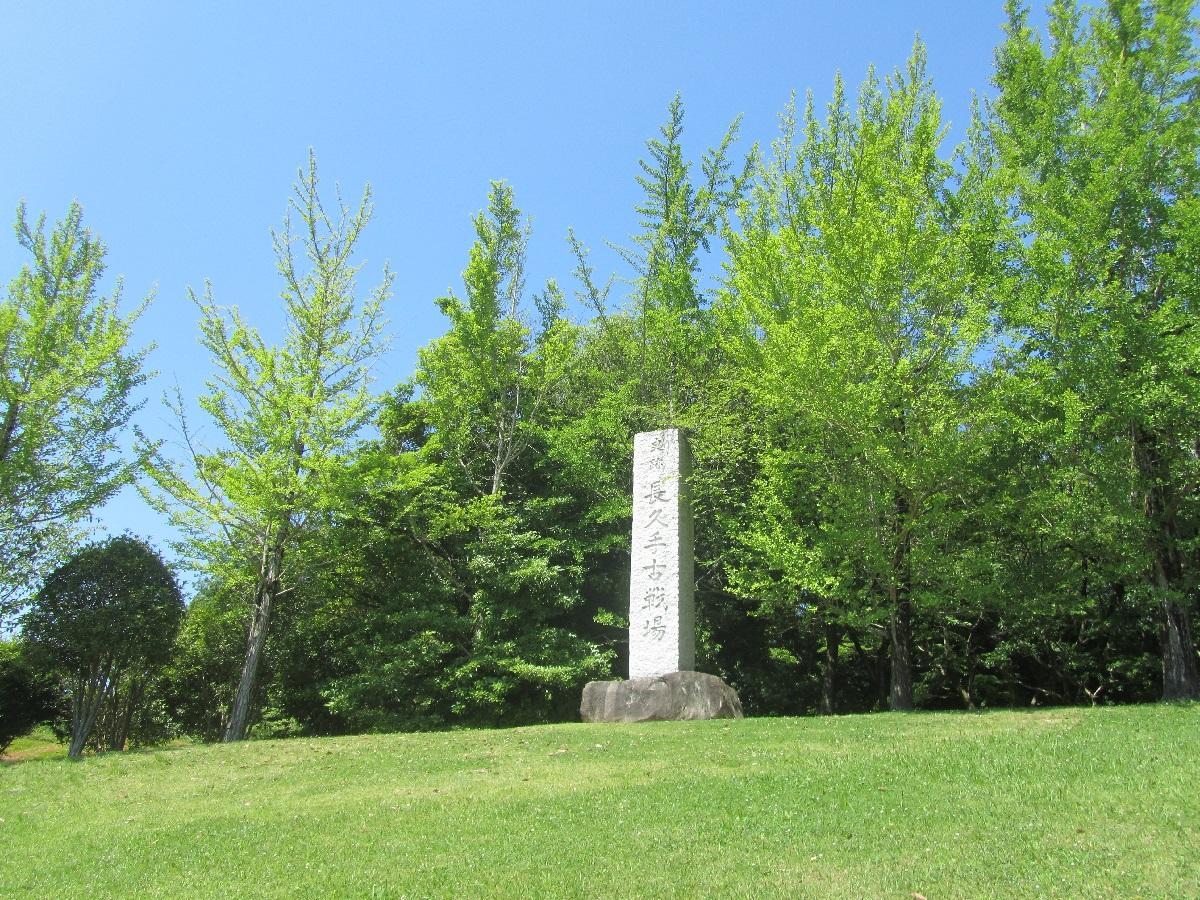
{"type": "Polygon", "coordinates": [[[1169,700],[1200,697],[1192,11],[1188,0],[1087,11],[1056,0],[1043,43],[1010,1],[990,119],[1021,275],[1003,311],[1006,364],[1022,385],[1021,428],[1060,494],[1062,514],[1046,522],[1060,546],[1100,548],[1069,551],[1092,583],[1157,606],[1169,700]]]}

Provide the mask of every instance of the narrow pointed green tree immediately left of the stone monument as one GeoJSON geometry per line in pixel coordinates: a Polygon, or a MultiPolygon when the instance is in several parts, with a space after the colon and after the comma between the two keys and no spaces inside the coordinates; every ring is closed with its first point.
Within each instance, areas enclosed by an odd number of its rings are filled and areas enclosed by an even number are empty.
{"type": "MultiPolygon", "coordinates": [[[[545,464],[546,431],[569,402],[578,330],[563,319],[553,281],[533,298],[536,326],[526,319],[528,226],[508,185],[492,185],[475,233],[466,298],[438,301],[450,329],[422,348],[415,378],[425,424],[416,455],[445,467],[431,485],[444,492],[440,503],[419,534],[450,560],[434,571],[456,616],[437,616],[437,641],[409,647],[449,654],[443,690],[458,720],[562,718],[608,664],[582,634],[590,623],[581,614],[571,497],[557,492],[545,464]]],[[[392,424],[408,418],[406,406],[391,407],[392,424]]]]}

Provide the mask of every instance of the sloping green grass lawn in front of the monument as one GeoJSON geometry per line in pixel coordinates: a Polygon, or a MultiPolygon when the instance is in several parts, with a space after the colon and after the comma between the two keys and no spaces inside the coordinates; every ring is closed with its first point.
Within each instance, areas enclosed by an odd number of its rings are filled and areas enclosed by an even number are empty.
{"type": "Polygon", "coordinates": [[[1200,896],[1200,706],[0,764],[2,896],[1200,896]]]}

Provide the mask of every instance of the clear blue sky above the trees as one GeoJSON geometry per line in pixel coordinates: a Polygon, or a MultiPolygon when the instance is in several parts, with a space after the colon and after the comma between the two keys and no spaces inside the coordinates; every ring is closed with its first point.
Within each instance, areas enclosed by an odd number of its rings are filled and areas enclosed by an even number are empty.
{"type": "MultiPolygon", "coordinates": [[[[870,64],[902,66],[919,34],[958,140],[972,92],[990,92],[1002,22],[1001,0],[2,0],[0,216],[24,199],[56,220],[78,199],[127,302],[155,292],[137,326],[158,372],[139,421],[169,437],[163,390],[194,397],[211,371],[188,286],[211,281],[277,334],[269,228],[310,148],[325,185],[374,193],[360,286],[384,260],[396,271],[385,390],[443,332],[433,301],[460,283],[491,180],[533,217],[530,288],[570,289],[569,226],[601,276],[628,275],[604,244],[636,230],[637,160],[676,92],[694,152],[738,114],[744,145],[766,145],[792,91],[823,102],[839,71],[853,90],[870,64]]],[[[0,284],[24,262],[5,234],[0,284]]],[[[168,535],[133,492],[101,518],[168,535]]]]}

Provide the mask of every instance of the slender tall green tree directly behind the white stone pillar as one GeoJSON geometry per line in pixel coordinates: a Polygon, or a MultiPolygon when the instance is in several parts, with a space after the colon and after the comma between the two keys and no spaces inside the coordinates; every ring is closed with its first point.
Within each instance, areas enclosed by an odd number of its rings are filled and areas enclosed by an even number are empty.
{"type": "MultiPolygon", "coordinates": [[[[642,198],[635,208],[638,230],[632,246],[618,248],[630,266],[632,292],[608,308],[612,280],[595,281],[582,242],[570,234],[576,256],[580,299],[595,319],[580,331],[577,362],[569,400],[546,439],[570,491],[584,504],[577,538],[587,547],[588,581],[602,588],[598,614],[610,640],[623,644],[629,593],[629,516],[632,442],[640,431],[684,428],[694,457],[692,502],[698,580],[706,608],[725,602],[718,560],[728,534],[718,510],[727,508],[736,487],[736,466],[728,456],[728,432],[714,427],[722,419],[713,396],[724,390],[714,332],[712,299],[706,286],[709,266],[721,250],[731,216],[749,184],[755,151],[737,166],[738,120],[721,140],[688,158],[684,107],[676,96],[659,134],[647,142],[638,161],[642,198]],[[732,476],[731,476],[732,475],[732,476]]],[[[736,456],[736,455],[734,455],[736,456]]],[[[701,656],[709,642],[701,628],[701,656]]],[[[620,660],[618,665],[624,665],[620,660]]]]}

